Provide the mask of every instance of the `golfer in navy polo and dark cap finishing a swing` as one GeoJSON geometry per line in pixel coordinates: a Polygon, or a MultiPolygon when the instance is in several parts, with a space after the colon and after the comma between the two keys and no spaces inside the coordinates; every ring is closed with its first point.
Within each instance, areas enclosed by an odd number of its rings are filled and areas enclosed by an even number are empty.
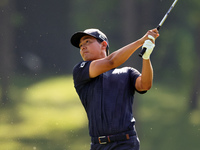
{"type": "Polygon", "coordinates": [[[149,30],[110,55],[108,38],[98,29],[71,37],[83,59],[73,69],[73,80],[89,120],[91,150],[139,150],[132,105],[135,92],[143,94],[152,86],[150,55],[158,36],[157,29],[149,30]],[[117,68],[141,46],[147,49],[141,73],[131,67],[117,68]]]}

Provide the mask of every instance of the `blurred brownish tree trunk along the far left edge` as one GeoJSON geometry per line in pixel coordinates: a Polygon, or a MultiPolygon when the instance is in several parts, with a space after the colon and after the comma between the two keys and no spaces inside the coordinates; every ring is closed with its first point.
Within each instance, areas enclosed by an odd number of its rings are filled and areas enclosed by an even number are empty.
{"type": "Polygon", "coordinates": [[[9,101],[9,81],[13,70],[14,50],[14,2],[12,0],[0,1],[0,82],[1,104],[9,101]]]}

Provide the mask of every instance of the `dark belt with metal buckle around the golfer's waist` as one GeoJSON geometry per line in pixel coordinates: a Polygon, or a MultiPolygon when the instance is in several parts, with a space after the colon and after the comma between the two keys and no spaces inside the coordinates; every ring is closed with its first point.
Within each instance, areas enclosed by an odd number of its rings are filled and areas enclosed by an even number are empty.
{"type": "Polygon", "coordinates": [[[119,133],[116,135],[109,135],[109,136],[99,136],[99,137],[91,137],[91,141],[94,144],[107,144],[111,142],[117,141],[126,141],[129,140],[131,136],[135,136],[136,132],[134,130],[119,133]]]}

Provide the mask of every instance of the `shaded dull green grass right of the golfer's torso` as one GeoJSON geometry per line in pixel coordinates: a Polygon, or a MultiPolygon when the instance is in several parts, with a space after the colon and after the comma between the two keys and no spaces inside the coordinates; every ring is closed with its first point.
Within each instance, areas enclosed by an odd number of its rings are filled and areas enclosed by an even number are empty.
{"type": "Polygon", "coordinates": [[[152,88],[140,101],[142,149],[198,150],[200,110],[188,111],[184,92],[158,87],[152,88]]]}

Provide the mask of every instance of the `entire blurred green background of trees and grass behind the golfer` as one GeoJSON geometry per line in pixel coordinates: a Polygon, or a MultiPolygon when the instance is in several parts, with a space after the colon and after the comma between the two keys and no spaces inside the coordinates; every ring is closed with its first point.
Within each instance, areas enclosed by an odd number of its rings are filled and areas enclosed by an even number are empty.
{"type": "MultiPolygon", "coordinates": [[[[1,0],[0,149],[88,150],[71,35],[99,28],[110,52],[155,28],[173,0],[1,0]]],[[[151,56],[154,85],[133,106],[142,150],[199,150],[200,1],[178,1],[151,56]]],[[[139,50],[123,65],[141,71],[139,50]]]]}

